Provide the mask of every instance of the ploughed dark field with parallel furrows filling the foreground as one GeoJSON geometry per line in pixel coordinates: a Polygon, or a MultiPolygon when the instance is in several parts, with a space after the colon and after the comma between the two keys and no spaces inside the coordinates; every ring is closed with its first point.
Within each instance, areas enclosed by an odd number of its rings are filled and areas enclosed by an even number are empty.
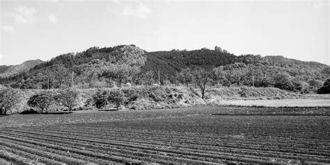
{"type": "Polygon", "coordinates": [[[328,107],[0,117],[0,163],[330,163],[328,107]]]}

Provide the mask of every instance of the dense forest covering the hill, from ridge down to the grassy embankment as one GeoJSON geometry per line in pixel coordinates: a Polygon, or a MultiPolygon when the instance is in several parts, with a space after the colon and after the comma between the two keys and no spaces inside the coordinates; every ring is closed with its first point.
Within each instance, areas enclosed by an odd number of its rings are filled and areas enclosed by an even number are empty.
{"type": "Polygon", "coordinates": [[[199,81],[204,86],[278,87],[301,93],[316,92],[330,75],[326,64],[282,56],[236,56],[219,46],[146,52],[121,45],[58,55],[29,71],[0,78],[0,83],[19,89],[152,85],[158,81],[158,70],[161,84],[198,86],[199,81]]]}

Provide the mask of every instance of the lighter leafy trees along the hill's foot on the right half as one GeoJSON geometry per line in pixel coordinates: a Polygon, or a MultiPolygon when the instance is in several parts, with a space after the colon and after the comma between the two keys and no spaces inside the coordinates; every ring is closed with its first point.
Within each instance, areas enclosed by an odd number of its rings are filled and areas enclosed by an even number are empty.
{"type": "Polygon", "coordinates": [[[198,86],[198,80],[204,80],[206,87],[277,87],[300,93],[317,92],[324,84],[322,73],[315,71],[240,62],[212,70],[182,69],[177,78],[177,83],[183,85],[198,86]]]}

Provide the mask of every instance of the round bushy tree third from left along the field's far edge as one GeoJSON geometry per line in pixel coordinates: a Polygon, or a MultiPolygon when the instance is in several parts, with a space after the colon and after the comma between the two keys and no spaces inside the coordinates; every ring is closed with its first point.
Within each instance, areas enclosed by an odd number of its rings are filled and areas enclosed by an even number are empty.
{"type": "Polygon", "coordinates": [[[75,89],[60,89],[56,96],[56,102],[60,105],[68,107],[69,112],[77,105],[78,92],[75,89]]]}

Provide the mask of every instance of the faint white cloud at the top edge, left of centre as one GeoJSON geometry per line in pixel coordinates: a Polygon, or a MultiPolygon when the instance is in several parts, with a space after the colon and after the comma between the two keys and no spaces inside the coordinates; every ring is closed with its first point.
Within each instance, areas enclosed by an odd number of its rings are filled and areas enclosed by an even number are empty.
{"type": "Polygon", "coordinates": [[[124,6],[123,15],[146,19],[150,15],[150,8],[140,1],[134,1],[131,5],[124,6]],[[133,4],[134,3],[134,4],[133,4]]]}

